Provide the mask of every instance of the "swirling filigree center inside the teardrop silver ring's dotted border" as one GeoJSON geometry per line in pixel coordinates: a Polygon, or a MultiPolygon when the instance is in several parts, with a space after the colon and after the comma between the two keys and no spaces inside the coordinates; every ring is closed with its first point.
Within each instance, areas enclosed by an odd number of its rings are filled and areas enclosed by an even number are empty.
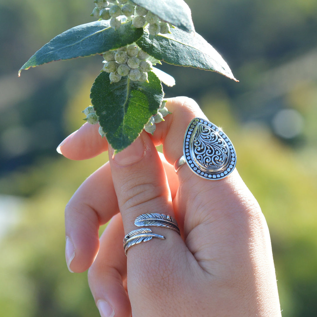
{"type": "Polygon", "coordinates": [[[223,138],[208,127],[198,126],[193,146],[195,157],[201,165],[210,169],[217,169],[226,165],[228,146],[223,138]]]}

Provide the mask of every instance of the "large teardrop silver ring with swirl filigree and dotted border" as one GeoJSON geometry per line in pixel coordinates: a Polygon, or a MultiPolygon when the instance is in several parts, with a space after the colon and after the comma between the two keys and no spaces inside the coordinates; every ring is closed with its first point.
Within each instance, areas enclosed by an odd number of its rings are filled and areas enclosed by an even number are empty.
{"type": "Polygon", "coordinates": [[[236,151],[223,131],[213,123],[194,118],[184,136],[183,155],[175,164],[174,170],[187,163],[198,176],[205,179],[227,177],[236,166],[236,151]]]}

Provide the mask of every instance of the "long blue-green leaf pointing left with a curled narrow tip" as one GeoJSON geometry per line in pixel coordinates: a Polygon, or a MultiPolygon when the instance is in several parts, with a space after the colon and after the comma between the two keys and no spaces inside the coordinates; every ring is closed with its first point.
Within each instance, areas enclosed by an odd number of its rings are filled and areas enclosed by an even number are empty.
{"type": "Polygon", "coordinates": [[[101,54],[111,49],[132,44],[143,34],[143,29],[132,27],[132,22],[122,23],[118,30],[110,27],[109,21],[100,20],[82,24],[54,37],[39,49],[19,70],[29,69],[44,63],[68,60],[101,54]]]}

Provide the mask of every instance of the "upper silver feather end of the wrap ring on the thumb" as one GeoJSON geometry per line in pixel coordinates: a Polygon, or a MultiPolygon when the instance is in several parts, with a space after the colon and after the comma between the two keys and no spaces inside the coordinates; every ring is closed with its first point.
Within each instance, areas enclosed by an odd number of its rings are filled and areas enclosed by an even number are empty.
{"type": "Polygon", "coordinates": [[[180,235],[177,221],[170,215],[159,213],[143,214],[135,218],[134,224],[137,227],[166,227],[175,230],[180,235]]]}

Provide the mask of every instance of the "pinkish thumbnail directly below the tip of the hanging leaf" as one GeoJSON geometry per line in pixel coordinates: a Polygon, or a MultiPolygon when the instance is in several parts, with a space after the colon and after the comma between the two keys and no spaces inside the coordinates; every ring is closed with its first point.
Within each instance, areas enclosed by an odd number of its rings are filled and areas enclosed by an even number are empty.
{"type": "Polygon", "coordinates": [[[138,162],[144,155],[144,142],[142,137],[139,137],[126,149],[115,154],[113,160],[119,165],[129,165],[138,162]]]}

